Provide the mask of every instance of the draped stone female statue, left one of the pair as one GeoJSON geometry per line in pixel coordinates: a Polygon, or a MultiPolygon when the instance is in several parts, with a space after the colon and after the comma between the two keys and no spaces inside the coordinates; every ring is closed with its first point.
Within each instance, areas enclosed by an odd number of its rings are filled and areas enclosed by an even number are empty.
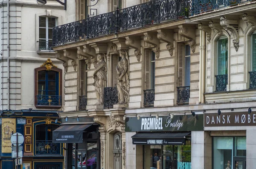
{"type": "Polygon", "coordinates": [[[96,97],[97,97],[97,103],[96,105],[102,105],[103,104],[103,94],[104,94],[104,87],[107,84],[107,72],[108,72],[108,67],[107,67],[107,60],[106,60],[106,55],[99,53],[97,54],[99,57],[99,62],[96,65],[96,69],[93,73],[93,79],[94,83],[93,86],[95,87],[96,91],[96,97]]]}

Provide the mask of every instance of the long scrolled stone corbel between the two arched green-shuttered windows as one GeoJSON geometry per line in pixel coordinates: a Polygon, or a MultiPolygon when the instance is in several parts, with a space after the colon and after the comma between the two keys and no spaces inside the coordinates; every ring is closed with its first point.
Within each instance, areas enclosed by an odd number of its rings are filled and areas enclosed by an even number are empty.
{"type": "Polygon", "coordinates": [[[220,24],[226,31],[230,31],[231,34],[233,35],[233,38],[234,38],[233,45],[237,52],[239,48],[239,34],[236,28],[234,27],[234,26],[238,27],[237,20],[229,20],[226,17],[222,16],[220,24]]]}

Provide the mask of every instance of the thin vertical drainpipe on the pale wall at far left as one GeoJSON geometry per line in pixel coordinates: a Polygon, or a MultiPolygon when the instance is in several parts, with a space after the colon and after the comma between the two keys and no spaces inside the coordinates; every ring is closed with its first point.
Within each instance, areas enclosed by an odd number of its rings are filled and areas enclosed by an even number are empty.
{"type": "Polygon", "coordinates": [[[10,28],[9,28],[9,23],[10,23],[10,4],[9,0],[7,0],[7,109],[10,110],[10,28]]]}

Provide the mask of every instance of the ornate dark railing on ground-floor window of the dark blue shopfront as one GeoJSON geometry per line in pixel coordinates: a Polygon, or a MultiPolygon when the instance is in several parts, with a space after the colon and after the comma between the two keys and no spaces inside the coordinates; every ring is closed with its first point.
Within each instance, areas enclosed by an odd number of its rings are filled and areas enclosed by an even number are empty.
{"type": "Polygon", "coordinates": [[[52,143],[52,141],[35,141],[35,154],[36,155],[60,155],[61,144],[52,143]]]}

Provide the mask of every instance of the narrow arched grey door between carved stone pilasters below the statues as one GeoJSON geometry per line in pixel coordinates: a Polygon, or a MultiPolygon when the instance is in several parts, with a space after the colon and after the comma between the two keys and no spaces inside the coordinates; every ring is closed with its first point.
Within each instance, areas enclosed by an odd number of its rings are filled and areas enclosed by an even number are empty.
{"type": "Polygon", "coordinates": [[[122,169],[122,146],[121,146],[121,135],[114,135],[114,169],[122,169]]]}

